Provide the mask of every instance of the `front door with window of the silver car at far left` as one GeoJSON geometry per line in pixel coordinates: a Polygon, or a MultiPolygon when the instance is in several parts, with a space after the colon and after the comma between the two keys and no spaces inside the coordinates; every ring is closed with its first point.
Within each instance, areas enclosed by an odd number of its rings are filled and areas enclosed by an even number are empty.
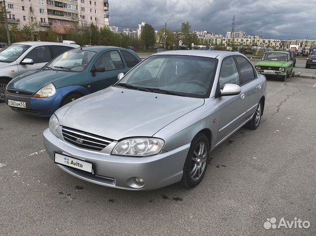
{"type": "Polygon", "coordinates": [[[38,46],[33,48],[18,64],[19,74],[28,71],[34,71],[43,67],[51,59],[50,50],[48,46],[38,46]],[[22,65],[22,61],[26,58],[33,60],[33,65],[22,65]]]}

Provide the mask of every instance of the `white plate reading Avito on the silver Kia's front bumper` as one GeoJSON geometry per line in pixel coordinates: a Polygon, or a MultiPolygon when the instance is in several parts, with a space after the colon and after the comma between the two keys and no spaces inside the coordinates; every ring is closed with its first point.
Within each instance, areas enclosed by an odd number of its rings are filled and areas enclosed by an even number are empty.
{"type": "Polygon", "coordinates": [[[61,155],[59,153],[55,153],[55,163],[66,165],[69,167],[73,167],[79,170],[83,170],[89,173],[93,173],[92,171],[92,163],[79,160],[74,157],[68,157],[65,155],[61,155]]]}

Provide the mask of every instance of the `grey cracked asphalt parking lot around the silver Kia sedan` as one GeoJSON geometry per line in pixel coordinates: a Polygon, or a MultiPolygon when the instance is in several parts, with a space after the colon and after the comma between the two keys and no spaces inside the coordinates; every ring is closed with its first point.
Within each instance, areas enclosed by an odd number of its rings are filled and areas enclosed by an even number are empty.
{"type": "Polygon", "coordinates": [[[315,95],[316,79],[268,80],[261,125],[216,148],[199,186],[150,192],[63,172],[43,147],[48,118],[1,103],[0,235],[315,235],[315,95]],[[272,217],[310,227],[266,230],[272,217]]]}

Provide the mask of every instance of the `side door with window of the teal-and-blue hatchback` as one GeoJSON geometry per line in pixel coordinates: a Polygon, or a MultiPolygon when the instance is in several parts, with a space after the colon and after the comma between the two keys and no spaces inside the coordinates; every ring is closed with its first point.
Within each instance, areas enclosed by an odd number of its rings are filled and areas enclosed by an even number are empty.
{"type": "Polygon", "coordinates": [[[91,92],[96,92],[113,85],[118,81],[118,74],[126,72],[128,72],[128,69],[124,67],[118,50],[107,51],[101,54],[96,59],[90,72],[91,92]],[[104,70],[102,71],[102,69],[104,70]]]}

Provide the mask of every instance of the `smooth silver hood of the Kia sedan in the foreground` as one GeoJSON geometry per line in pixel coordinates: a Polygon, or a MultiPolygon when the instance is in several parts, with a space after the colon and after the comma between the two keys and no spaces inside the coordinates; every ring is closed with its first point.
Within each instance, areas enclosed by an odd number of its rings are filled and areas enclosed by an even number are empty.
{"type": "Polygon", "coordinates": [[[203,104],[201,98],[109,87],[66,105],[56,115],[60,125],[120,140],[153,136],[203,104]]]}

